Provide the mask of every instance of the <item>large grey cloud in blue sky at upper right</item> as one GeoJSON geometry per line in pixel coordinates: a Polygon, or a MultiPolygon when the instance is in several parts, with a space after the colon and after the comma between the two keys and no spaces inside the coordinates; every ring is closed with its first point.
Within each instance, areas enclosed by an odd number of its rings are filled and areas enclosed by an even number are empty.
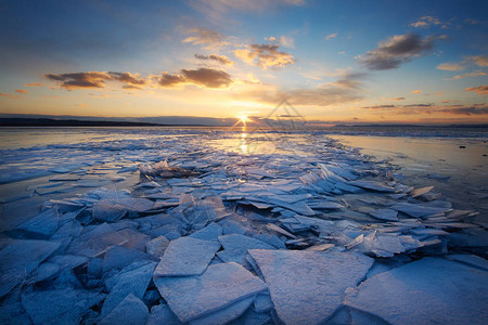
{"type": "Polygon", "coordinates": [[[360,62],[371,70],[394,69],[432,50],[434,42],[444,37],[422,38],[418,34],[395,35],[378,47],[360,55],[360,62]]]}

